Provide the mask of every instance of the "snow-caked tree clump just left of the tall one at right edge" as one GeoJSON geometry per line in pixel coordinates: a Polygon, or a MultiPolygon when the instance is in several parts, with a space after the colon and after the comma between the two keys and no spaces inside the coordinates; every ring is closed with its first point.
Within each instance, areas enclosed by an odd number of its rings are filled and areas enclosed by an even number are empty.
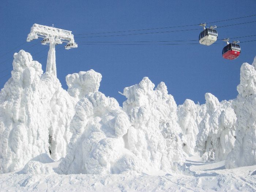
{"type": "Polygon", "coordinates": [[[237,117],[231,108],[231,101],[219,102],[205,94],[206,113],[199,124],[196,150],[204,161],[223,161],[234,147],[237,117]]]}

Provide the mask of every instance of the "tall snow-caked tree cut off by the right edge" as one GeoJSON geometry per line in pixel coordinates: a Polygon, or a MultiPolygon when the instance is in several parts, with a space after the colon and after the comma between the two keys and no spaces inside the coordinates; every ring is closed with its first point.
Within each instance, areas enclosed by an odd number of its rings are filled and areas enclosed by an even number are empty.
{"type": "Polygon", "coordinates": [[[237,114],[237,140],[227,156],[227,169],[256,165],[256,57],[252,65],[241,66],[238,96],[233,100],[237,114]]]}

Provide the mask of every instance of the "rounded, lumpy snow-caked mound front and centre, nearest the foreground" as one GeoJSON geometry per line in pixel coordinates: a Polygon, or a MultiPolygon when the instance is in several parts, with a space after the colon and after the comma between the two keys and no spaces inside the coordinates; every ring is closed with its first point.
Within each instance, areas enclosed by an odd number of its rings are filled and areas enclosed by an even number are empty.
{"type": "Polygon", "coordinates": [[[109,174],[135,169],[136,157],[125,149],[123,139],[129,126],[116,99],[100,92],[86,94],[76,105],[73,135],[60,172],[109,174]]]}

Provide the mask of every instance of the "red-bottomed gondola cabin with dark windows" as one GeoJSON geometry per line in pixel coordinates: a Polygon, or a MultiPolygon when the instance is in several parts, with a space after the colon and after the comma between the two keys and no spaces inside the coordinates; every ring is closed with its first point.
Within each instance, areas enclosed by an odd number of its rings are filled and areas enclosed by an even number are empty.
{"type": "Polygon", "coordinates": [[[240,45],[237,45],[239,41],[233,41],[233,43],[229,43],[229,39],[223,39],[223,41],[226,41],[227,45],[222,49],[222,57],[229,60],[236,59],[241,53],[240,45]]]}

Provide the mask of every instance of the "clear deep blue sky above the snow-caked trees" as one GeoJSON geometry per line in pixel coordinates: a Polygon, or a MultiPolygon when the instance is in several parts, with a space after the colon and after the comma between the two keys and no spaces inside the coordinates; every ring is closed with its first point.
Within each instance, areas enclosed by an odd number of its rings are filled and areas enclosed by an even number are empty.
{"type": "MultiPolygon", "coordinates": [[[[207,92],[214,94],[219,101],[233,99],[237,96],[241,64],[252,63],[256,55],[256,41],[241,43],[240,56],[230,61],[222,58],[225,44],[221,40],[211,46],[188,44],[197,43],[202,27],[165,27],[255,15],[255,10],[256,0],[1,0],[0,88],[10,78],[13,54],[20,49],[30,52],[45,71],[49,47],[39,43],[42,39],[26,42],[30,27],[38,23],[54,24],[54,27],[71,30],[75,34],[78,48],[65,50],[63,45],[56,46],[57,76],[64,89],[67,89],[67,74],[94,69],[102,74],[99,90],[116,98],[120,106],[125,97],[118,91],[123,92],[124,87],[139,83],[144,76],[148,76],[155,86],[165,82],[177,104],[182,104],[187,98],[195,103],[205,103],[204,94],[207,92]],[[174,30],[184,31],[155,33],[174,30]],[[128,32],[106,33],[113,31],[128,32]],[[157,42],[181,40],[185,42],[157,42]],[[163,45],[173,43],[182,45],[163,45]]],[[[256,21],[256,16],[211,25],[252,22],[217,28],[218,39],[255,35],[238,38],[242,42],[256,40],[256,22],[253,21],[256,21]]]]}

